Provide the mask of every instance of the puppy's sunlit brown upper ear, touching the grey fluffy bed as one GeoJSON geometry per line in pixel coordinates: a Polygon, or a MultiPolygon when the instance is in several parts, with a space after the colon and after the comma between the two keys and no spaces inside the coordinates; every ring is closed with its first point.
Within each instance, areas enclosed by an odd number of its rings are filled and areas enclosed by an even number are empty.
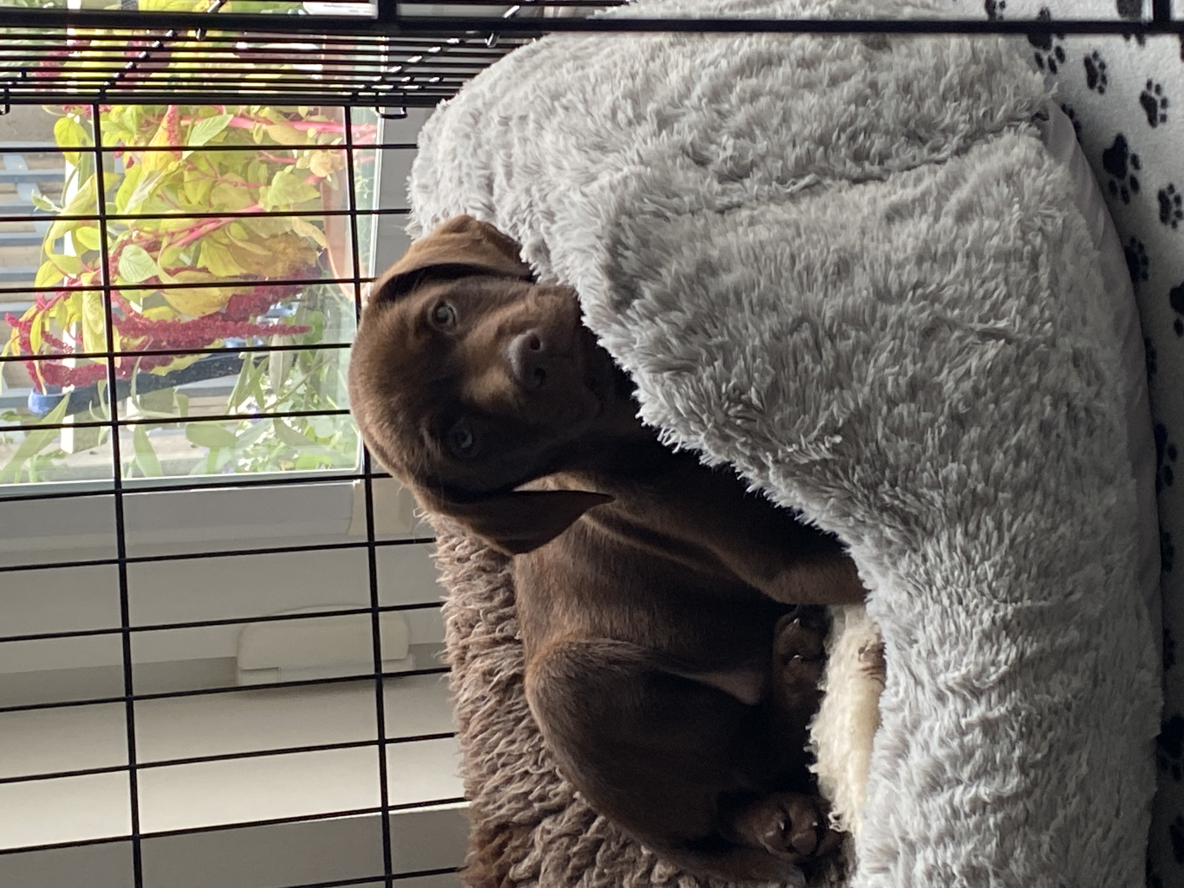
{"type": "Polygon", "coordinates": [[[456,215],[427,237],[413,243],[374,285],[372,297],[397,300],[420,282],[465,275],[498,275],[529,281],[530,266],[522,262],[522,247],[489,223],[456,215]]]}

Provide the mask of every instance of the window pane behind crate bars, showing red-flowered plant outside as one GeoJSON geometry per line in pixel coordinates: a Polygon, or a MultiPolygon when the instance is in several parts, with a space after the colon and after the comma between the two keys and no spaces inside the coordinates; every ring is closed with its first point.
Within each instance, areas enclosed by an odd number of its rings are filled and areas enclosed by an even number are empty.
{"type": "Polygon", "coordinates": [[[52,111],[9,115],[52,139],[9,141],[0,174],[31,213],[0,233],[5,356],[27,359],[4,368],[0,483],[108,481],[116,451],[122,480],[356,470],[345,369],[377,115],[52,111]]]}

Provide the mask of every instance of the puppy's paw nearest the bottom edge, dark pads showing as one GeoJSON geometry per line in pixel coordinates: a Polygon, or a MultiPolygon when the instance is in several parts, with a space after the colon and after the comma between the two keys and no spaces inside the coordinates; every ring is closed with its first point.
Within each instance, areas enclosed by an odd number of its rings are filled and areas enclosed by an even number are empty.
{"type": "Polygon", "coordinates": [[[842,835],[830,829],[825,802],[793,792],[767,796],[741,809],[735,832],[744,843],[791,863],[823,857],[842,843],[842,835]]]}

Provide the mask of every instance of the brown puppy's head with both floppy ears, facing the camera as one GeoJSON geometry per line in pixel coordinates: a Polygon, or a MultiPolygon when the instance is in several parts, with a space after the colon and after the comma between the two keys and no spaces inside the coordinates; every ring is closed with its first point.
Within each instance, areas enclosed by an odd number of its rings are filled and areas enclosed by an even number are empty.
{"type": "Polygon", "coordinates": [[[375,284],[349,394],[382,465],[426,508],[509,553],[610,498],[514,488],[571,468],[598,430],[633,412],[575,295],[534,283],[517,244],[468,215],[416,242],[375,284]]]}

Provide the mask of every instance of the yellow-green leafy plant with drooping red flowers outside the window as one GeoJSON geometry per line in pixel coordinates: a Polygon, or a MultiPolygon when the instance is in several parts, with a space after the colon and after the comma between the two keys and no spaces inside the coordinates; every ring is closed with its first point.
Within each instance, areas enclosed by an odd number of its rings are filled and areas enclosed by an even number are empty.
{"type": "MultiPolygon", "coordinates": [[[[175,429],[189,414],[175,382],[187,368],[193,377],[192,366],[206,360],[201,349],[234,343],[310,348],[243,352],[221,413],[342,410],[343,353],[313,347],[326,330],[334,339],[348,335],[350,291],[300,283],[353,274],[334,268],[343,245],[333,250],[324,215],[327,206],[346,205],[340,116],[259,105],[103,107],[97,120],[89,105],[51,110],[66,179],[59,204],[37,198],[57,219],[34,283],[52,289],[22,316],[8,316],[5,346],[7,354],[54,355],[26,365],[47,403],[60,394],[43,422],[62,423],[66,410],[85,410],[81,418],[90,422],[109,416],[105,384],[114,374],[115,399],[140,419],[160,420],[130,427],[123,471],[175,474],[176,459],[166,463],[154,446],[155,431],[175,429]],[[116,148],[102,170],[86,150],[94,127],[104,147],[116,148]],[[109,346],[110,365],[96,354],[109,346]],[[153,354],[137,354],[143,352],[153,354]],[[77,395],[88,391],[89,400],[77,395]]],[[[355,126],[354,142],[373,142],[374,130],[355,126]]],[[[62,456],[47,431],[25,435],[0,468],[0,482],[46,474],[45,463],[62,456]]],[[[195,474],[354,465],[358,452],[355,432],[341,417],[189,422],[184,432],[207,450],[189,459],[186,470],[195,474]]],[[[98,429],[94,445],[107,435],[98,429]]]]}

